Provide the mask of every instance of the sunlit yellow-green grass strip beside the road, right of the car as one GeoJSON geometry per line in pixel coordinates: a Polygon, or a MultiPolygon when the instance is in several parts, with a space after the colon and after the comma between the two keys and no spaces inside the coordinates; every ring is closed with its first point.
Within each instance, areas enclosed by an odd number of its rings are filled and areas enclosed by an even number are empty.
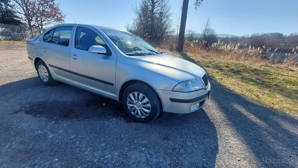
{"type": "Polygon", "coordinates": [[[286,69],[169,53],[204,68],[209,77],[237,94],[287,114],[298,116],[298,73],[286,69]]]}

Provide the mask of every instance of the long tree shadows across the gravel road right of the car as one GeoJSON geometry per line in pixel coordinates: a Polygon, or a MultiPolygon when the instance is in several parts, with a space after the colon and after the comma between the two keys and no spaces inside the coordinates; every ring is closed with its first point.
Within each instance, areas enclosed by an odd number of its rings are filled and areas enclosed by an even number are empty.
{"type": "MultiPolygon", "coordinates": [[[[195,63],[186,53],[180,55],[195,63]]],[[[254,153],[254,158],[249,158],[252,164],[260,167],[297,166],[297,118],[235,94],[215,80],[212,80],[210,97],[254,153]]]]}

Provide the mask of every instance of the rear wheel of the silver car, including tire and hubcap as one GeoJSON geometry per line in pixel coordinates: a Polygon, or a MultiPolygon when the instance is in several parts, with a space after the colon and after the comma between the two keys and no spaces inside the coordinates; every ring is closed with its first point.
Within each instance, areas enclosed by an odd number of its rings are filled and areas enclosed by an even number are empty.
{"type": "Polygon", "coordinates": [[[46,66],[46,63],[44,63],[43,60],[40,60],[37,62],[36,71],[37,71],[37,75],[38,75],[41,83],[43,83],[44,85],[52,86],[52,85],[56,85],[58,83],[58,81],[56,81],[52,78],[49,68],[48,68],[48,66],[46,66]],[[40,66],[40,65],[42,65],[42,66],[40,66]],[[41,73],[41,74],[39,73],[39,67],[41,67],[41,71],[43,71],[43,73],[41,73]],[[46,69],[46,71],[44,68],[46,69]],[[44,76],[44,77],[42,77],[42,76],[44,76]],[[47,80],[46,80],[46,76],[48,76],[47,80]]]}

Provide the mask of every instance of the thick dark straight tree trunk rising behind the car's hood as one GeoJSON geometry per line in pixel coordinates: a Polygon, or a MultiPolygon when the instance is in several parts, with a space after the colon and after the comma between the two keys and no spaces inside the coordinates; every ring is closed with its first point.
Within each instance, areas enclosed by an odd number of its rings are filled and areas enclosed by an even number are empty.
{"type": "Polygon", "coordinates": [[[186,18],[187,18],[187,8],[188,8],[188,1],[183,0],[182,5],[182,13],[181,13],[181,22],[180,22],[180,30],[179,30],[179,37],[178,37],[178,51],[183,51],[184,45],[184,33],[185,33],[185,25],[186,25],[186,18]]]}

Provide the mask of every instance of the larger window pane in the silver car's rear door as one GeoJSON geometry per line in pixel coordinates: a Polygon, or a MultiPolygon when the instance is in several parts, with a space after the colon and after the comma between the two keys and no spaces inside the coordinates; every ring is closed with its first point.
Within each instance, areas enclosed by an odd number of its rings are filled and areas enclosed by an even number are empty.
{"type": "Polygon", "coordinates": [[[68,46],[72,28],[73,26],[63,26],[55,28],[52,37],[52,43],[68,46]]]}

